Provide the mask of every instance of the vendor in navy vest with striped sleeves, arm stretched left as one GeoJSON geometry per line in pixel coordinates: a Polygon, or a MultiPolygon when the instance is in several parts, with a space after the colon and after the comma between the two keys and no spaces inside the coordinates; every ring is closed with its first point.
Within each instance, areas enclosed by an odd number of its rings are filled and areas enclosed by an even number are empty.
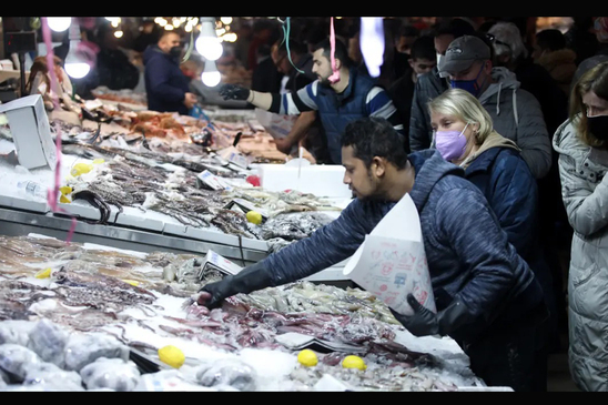
{"type": "MultiPolygon", "coordinates": [[[[330,39],[315,47],[313,72],[317,79],[295,93],[263,93],[240,85],[224,84],[220,94],[226,100],[246,100],[260,109],[278,114],[316,111],[323,123],[332,164],[340,164],[342,161],[340,140],[351,121],[363,117],[385,118],[395,130],[403,133],[397,109],[386,91],[352,67],[346,47],[338,39],[335,41],[334,72],[330,61],[331,50],[330,39]],[[337,80],[333,81],[334,78],[337,80]]],[[[402,146],[405,150],[405,145],[402,146]]]]}

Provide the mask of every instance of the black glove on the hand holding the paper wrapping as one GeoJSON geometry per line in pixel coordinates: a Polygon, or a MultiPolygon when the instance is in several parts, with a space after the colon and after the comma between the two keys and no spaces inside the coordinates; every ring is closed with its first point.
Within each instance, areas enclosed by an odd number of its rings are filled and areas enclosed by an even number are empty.
{"type": "Polygon", "coordinates": [[[396,313],[393,308],[391,312],[414,336],[445,336],[472,321],[466,305],[458,298],[454,300],[444,311],[439,311],[437,315],[418,303],[412,294],[407,294],[407,303],[414,310],[414,315],[405,316],[396,313]]]}

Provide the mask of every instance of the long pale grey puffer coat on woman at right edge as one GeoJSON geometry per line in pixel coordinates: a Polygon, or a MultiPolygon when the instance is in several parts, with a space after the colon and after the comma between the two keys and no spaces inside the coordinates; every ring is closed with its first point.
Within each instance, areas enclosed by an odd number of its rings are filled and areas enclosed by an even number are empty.
{"type": "Polygon", "coordinates": [[[608,151],[582,143],[570,121],[556,131],[554,149],[575,231],[568,274],[570,373],[580,389],[608,391],[608,151]]]}

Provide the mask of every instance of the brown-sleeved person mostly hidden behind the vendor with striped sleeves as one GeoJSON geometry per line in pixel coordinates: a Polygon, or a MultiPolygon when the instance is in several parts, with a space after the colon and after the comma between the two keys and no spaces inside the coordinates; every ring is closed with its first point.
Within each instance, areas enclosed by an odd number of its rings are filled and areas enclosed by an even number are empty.
{"type": "MultiPolygon", "coordinates": [[[[272,60],[277,71],[283,74],[285,87],[281,93],[295,93],[317,78],[313,73],[313,55],[308,53],[306,45],[297,40],[287,39],[276,42],[273,47],[272,60]],[[287,52],[287,44],[290,52],[287,52]]],[[[323,123],[316,111],[302,112],[294,122],[292,131],[285,138],[275,139],[274,143],[281,152],[294,155],[297,155],[297,146],[302,143],[315,158],[316,163],[330,161],[323,123]]]]}

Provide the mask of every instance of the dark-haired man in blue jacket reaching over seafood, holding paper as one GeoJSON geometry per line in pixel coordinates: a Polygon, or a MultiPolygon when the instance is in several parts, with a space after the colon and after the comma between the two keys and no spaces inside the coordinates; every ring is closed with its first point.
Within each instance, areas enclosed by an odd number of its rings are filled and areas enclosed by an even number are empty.
{"type": "Polygon", "coordinates": [[[414,314],[393,315],[415,336],[454,338],[488,386],[533,391],[535,342],[547,312],[543,290],[479,189],[438,151],[408,155],[403,135],[385,119],[349,122],[341,144],[344,183],[356,199],[340,217],[234,276],[203,285],[197,303],[211,310],[234,294],[295,282],[349,257],[408,194],[419,215],[437,313],[409,294],[414,314]]]}

